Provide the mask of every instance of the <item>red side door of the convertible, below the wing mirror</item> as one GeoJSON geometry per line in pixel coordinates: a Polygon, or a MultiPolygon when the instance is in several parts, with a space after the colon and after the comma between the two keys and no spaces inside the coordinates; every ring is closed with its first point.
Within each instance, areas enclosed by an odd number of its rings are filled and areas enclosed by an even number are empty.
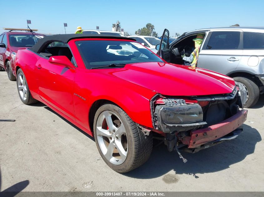
{"type": "Polygon", "coordinates": [[[73,85],[76,69],[50,63],[48,57],[41,57],[35,73],[40,98],[75,121],[73,85]]]}

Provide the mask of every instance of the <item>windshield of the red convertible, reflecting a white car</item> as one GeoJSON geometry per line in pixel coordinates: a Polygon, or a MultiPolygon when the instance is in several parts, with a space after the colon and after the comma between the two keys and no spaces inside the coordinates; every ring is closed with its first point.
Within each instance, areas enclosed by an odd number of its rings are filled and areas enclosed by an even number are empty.
{"type": "Polygon", "coordinates": [[[88,69],[111,64],[163,62],[156,54],[137,42],[82,40],[75,43],[88,69]]]}

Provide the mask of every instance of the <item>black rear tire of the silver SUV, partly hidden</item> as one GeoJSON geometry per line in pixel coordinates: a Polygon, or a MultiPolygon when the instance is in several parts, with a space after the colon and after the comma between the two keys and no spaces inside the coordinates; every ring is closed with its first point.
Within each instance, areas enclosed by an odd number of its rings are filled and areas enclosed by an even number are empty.
{"type": "Polygon", "coordinates": [[[259,99],[259,87],[257,86],[257,84],[247,77],[234,77],[233,79],[236,82],[240,82],[244,84],[248,91],[248,99],[244,107],[246,108],[253,107],[259,99]]]}

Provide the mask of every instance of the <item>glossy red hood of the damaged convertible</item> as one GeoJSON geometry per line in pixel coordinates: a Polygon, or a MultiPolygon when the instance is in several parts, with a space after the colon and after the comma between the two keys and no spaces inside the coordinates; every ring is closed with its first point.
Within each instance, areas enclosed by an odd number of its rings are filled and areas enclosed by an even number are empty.
{"type": "Polygon", "coordinates": [[[127,64],[109,74],[167,96],[226,94],[235,88],[234,80],[220,73],[171,63],[127,64]]]}

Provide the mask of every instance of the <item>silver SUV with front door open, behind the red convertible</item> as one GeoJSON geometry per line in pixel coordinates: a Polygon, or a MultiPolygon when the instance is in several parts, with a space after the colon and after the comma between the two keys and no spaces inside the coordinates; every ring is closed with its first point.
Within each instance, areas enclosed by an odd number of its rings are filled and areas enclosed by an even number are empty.
{"type": "Polygon", "coordinates": [[[181,55],[190,56],[192,39],[203,34],[197,67],[206,68],[234,78],[247,90],[247,108],[254,106],[264,91],[264,28],[208,28],[182,34],[171,44],[169,31],[164,30],[159,55],[170,63],[184,64],[181,55]]]}

